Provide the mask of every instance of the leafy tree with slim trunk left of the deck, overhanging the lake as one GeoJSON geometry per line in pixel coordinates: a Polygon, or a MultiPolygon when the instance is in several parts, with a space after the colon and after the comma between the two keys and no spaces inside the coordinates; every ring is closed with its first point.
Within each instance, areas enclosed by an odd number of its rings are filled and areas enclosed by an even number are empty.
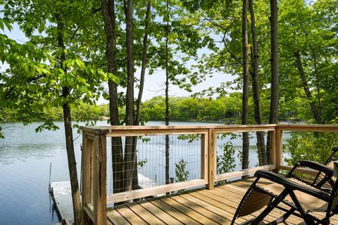
{"type": "MultiPolygon", "coordinates": [[[[17,105],[18,112],[25,111],[26,115],[31,112],[27,118],[42,112],[47,105],[63,108],[75,224],[81,223],[81,210],[70,105],[77,105],[79,101],[94,103],[99,98],[101,82],[108,79],[103,70],[86,62],[88,51],[93,49],[83,49],[79,44],[92,37],[89,32],[92,24],[88,23],[92,20],[86,19],[92,17],[92,7],[91,2],[84,5],[80,1],[20,1],[20,4],[4,1],[5,16],[20,25],[32,44],[50,52],[48,61],[46,56],[32,57],[36,62],[41,58],[45,62],[42,68],[32,70],[33,73],[18,71],[14,66],[7,70],[4,84],[10,88],[6,90],[6,101],[11,102],[8,104],[11,107],[21,101],[17,105]]],[[[32,44],[30,48],[33,48],[32,44]]],[[[26,54],[22,53],[20,57],[26,54]]],[[[110,77],[115,79],[112,75],[110,77]]],[[[57,128],[52,121],[38,127],[39,130],[57,128]]]]}

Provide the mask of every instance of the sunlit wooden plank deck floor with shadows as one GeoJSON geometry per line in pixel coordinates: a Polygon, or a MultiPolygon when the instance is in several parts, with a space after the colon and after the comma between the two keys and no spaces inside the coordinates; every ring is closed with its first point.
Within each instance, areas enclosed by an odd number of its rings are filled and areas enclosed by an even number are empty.
{"type": "MultiPolygon", "coordinates": [[[[212,191],[186,191],[108,208],[107,224],[230,224],[239,201],[252,181],[253,178],[239,180],[216,186],[212,191]]],[[[244,218],[250,219],[257,214],[244,218]]],[[[280,210],[273,210],[265,217],[265,222],[281,215],[280,210]]],[[[237,219],[237,223],[242,221],[244,219],[237,219]]],[[[298,217],[291,216],[286,224],[304,223],[298,217]]],[[[332,217],[331,224],[338,224],[337,215],[332,217]]]]}

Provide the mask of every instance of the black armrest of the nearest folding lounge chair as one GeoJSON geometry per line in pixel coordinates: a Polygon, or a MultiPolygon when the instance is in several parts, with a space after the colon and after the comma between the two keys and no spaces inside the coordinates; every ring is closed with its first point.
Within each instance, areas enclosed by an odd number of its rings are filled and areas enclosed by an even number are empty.
{"type": "Polygon", "coordinates": [[[285,188],[289,188],[289,189],[296,190],[296,191],[301,191],[303,193],[307,193],[308,195],[313,195],[315,198],[325,200],[326,202],[330,201],[330,193],[325,193],[324,191],[320,191],[315,188],[310,188],[306,185],[297,184],[296,182],[291,181],[290,179],[287,179],[284,176],[281,176],[280,174],[276,174],[268,170],[258,170],[255,173],[255,176],[268,179],[277,184],[281,184],[285,188]]]}

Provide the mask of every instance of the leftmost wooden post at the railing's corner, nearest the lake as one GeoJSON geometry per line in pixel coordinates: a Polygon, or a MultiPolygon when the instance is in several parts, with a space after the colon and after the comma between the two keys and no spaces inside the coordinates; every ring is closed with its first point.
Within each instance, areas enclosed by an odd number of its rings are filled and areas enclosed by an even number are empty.
{"type": "Polygon", "coordinates": [[[93,170],[93,141],[83,132],[82,134],[82,153],[81,153],[81,195],[82,195],[82,223],[84,225],[93,224],[87,213],[84,211],[86,204],[92,203],[92,170],[93,170]]]}

